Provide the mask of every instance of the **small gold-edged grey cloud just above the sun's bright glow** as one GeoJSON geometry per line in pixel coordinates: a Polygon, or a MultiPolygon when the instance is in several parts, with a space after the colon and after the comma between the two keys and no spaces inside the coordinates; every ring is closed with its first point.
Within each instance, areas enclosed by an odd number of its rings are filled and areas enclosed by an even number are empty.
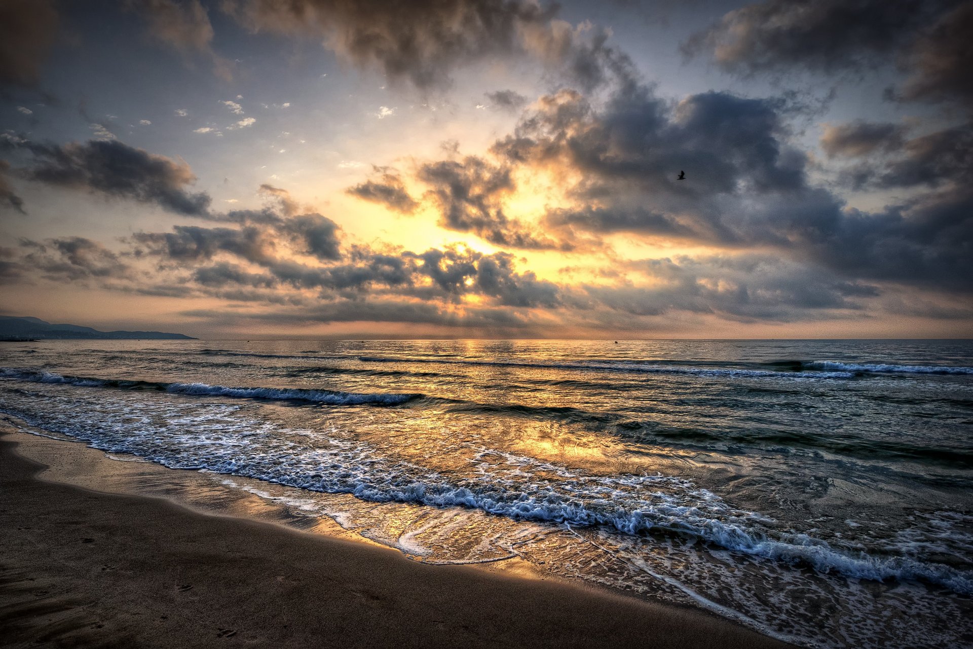
{"type": "Polygon", "coordinates": [[[515,188],[507,166],[468,156],[462,161],[423,164],[416,178],[429,187],[428,196],[439,207],[444,228],[512,248],[559,249],[566,245],[504,214],[502,198],[515,188]]]}

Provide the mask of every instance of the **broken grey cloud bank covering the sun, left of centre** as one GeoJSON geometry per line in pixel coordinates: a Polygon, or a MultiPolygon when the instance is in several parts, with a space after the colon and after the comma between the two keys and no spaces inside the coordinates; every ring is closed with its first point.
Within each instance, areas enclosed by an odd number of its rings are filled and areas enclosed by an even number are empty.
{"type": "Polygon", "coordinates": [[[277,286],[328,295],[372,292],[446,302],[481,295],[514,307],[560,304],[559,287],[532,272],[518,272],[509,253],[486,255],[461,247],[422,253],[360,245],[343,249],[341,229],[331,219],[316,213],[285,216],[274,208],[209,218],[235,227],[175,226],[169,233],[133,234],[130,255],[159,258],[162,269],[193,269],[192,278],[205,286],[277,286]],[[313,257],[316,265],[298,261],[294,253],[313,257]],[[252,272],[226,260],[210,264],[220,255],[263,270],[252,272]]]}

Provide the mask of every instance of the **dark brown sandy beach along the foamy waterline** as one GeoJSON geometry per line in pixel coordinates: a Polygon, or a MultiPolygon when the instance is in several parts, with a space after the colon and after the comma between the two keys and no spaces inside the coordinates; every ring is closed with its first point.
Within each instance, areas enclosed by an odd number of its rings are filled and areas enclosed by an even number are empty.
{"type": "Polygon", "coordinates": [[[0,646],[789,646],[694,609],[47,482],[11,440],[0,646]]]}

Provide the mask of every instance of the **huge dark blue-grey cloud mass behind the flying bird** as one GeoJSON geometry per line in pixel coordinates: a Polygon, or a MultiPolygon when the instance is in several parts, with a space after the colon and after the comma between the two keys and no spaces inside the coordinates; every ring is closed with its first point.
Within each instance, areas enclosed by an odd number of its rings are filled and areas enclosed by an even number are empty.
{"type": "Polygon", "coordinates": [[[808,158],[784,121],[792,110],[786,98],[715,91],[672,105],[620,75],[598,104],[577,90],[541,97],[494,142],[496,162],[426,162],[416,179],[431,188],[441,225],[497,245],[564,248],[585,234],[630,233],[727,250],[771,247],[852,281],[973,290],[973,256],[964,254],[973,240],[967,126],[901,145],[905,131],[894,127],[827,131],[836,158],[886,152],[849,170],[860,184],[938,188],[864,212],[811,184],[808,158]],[[688,182],[676,180],[683,169],[688,182]],[[523,227],[504,205],[514,177],[532,172],[557,178],[568,204],[548,209],[544,234],[518,240],[523,227]]]}

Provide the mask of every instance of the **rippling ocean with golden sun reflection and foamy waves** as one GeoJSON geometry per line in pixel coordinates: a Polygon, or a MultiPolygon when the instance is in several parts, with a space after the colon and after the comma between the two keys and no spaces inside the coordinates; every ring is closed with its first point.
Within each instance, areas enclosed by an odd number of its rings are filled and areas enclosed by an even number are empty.
{"type": "Polygon", "coordinates": [[[973,645],[971,341],[45,341],[0,368],[32,427],[411,559],[802,646],[973,645]]]}

